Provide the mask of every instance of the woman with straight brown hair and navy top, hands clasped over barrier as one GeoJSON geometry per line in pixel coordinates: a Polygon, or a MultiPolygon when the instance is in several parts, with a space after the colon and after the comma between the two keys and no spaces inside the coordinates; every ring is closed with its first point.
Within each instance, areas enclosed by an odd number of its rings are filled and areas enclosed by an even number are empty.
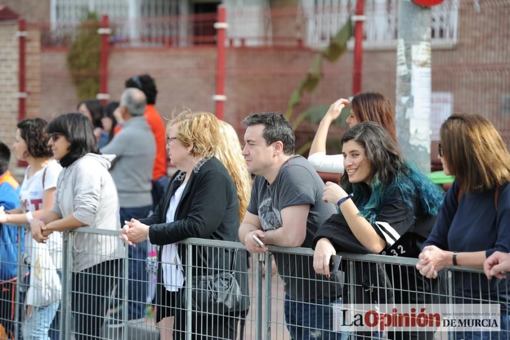
{"type": "MultiPolygon", "coordinates": [[[[439,158],[455,176],[416,268],[427,278],[451,265],[483,268],[496,251],[510,252],[510,154],[491,122],[454,114],[441,126],[439,158]]],[[[457,339],[507,339],[510,279],[453,273],[455,302],[498,303],[502,332],[456,332],[457,339]]]]}

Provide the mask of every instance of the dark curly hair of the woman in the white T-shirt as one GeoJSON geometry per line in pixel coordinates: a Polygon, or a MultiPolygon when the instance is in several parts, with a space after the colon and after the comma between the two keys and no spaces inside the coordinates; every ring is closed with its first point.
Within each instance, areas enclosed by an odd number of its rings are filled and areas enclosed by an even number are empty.
{"type": "Polygon", "coordinates": [[[48,122],[42,118],[23,119],[17,125],[21,138],[27,144],[27,153],[34,158],[53,156],[52,148],[48,145],[47,125],[48,122]]]}

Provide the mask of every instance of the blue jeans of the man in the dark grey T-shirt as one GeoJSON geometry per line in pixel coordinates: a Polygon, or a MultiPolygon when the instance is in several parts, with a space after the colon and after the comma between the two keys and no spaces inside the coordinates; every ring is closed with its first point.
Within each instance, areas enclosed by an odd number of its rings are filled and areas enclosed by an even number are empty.
{"type": "Polygon", "coordinates": [[[292,300],[285,295],[285,322],[293,340],[326,339],[346,340],[348,333],[333,331],[333,303],[342,303],[329,298],[318,298],[309,302],[292,300]]]}

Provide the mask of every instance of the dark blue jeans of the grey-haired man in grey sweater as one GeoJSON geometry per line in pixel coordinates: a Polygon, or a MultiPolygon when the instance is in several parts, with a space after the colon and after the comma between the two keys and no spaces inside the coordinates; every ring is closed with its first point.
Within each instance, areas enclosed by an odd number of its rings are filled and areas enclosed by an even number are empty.
{"type": "MultiPolygon", "coordinates": [[[[121,226],[124,221],[130,221],[131,218],[138,220],[148,216],[151,205],[136,208],[120,208],[121,226]]],[[[129,247],[129,270],[127,272],[127,320],[138,320],[145,316],[145,301],[147,297],[147,270],[145,261],[147,259],[147,242],[141,242],[136,247],[129,247]]],[[[123,300],[122,294],[123,284],[119,287],[120,298],[123,300]]]]}

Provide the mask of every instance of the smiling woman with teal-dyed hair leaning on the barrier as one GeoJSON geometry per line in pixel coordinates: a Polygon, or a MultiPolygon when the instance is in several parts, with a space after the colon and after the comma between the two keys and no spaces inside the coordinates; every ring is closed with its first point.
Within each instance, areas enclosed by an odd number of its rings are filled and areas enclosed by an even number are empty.
{"type": "MultiPolygon", "coordinates": [[[[315,235],[315,271],[329,276],[329,260],[337,251],[418,257],[436,221],[442,190],[405,161],[395,139],[374,122],[349,129],[342,136],[342,154],[341,186],[327,182],[323,195],[340,213],[315,235]]],[[[431,293],[414,268],[395,266],[386,273],[393,277],[395,303],[425,300],[409,290],[431,293]]],[[[415,333],[406,332],[405,338],[433,337],[431,332],[415,333]]]]}

